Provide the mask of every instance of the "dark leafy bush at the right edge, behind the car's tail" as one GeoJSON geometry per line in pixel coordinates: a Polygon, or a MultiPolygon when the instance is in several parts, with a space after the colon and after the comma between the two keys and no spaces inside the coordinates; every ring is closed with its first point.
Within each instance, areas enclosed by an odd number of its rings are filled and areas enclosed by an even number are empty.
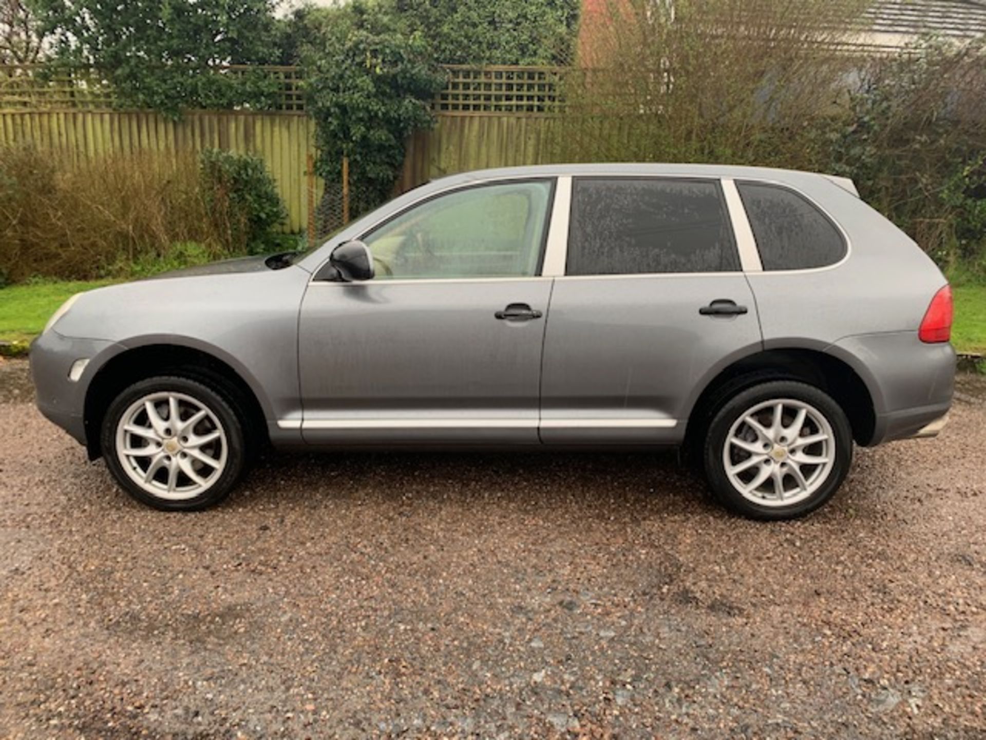
{"type": "Polygon", "coordinates": [[[815,122],[820,169],[944,265],[986,249],[986,48],[926,39],[872,60],[843,111],[815,122]]]}

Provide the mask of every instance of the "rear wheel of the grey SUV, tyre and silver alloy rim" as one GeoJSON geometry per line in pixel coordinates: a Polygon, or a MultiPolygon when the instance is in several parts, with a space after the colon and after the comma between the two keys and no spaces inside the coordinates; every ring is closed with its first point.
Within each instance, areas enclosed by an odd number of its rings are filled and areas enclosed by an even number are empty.
{"type": "Polygon", "coordinates": [[[748,388],[715,413],[703,461],[712,492],[754,519],[814,511],[845,480],[853,437],[842,408],[796,381],[748,388]]]}

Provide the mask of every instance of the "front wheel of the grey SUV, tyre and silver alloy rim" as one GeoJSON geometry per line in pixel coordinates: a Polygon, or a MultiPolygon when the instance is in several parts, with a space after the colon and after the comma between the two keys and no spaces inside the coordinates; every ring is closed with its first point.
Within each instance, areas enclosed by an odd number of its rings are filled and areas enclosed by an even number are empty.
{"type": "Polygon", "coordinates": [[[179,376],[148,378],[109,405],[101,442],[106,467],[134,498],[169,511],[222,500],[246,463],[243,416],[218,386],[179,376]]]}

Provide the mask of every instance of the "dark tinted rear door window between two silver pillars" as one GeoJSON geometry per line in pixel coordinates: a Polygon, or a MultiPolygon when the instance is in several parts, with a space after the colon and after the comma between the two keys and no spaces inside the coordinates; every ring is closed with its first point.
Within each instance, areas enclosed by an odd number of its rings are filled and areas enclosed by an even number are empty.
{"type": "Polygon", "coordinates": [[[578,178],[572,185],[567,274],[738,269],[718,183],[578,178]]]}

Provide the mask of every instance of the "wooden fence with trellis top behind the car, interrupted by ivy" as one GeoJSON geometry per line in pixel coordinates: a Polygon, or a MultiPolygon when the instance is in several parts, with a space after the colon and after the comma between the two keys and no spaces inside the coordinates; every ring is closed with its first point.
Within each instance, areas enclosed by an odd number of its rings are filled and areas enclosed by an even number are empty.
{"type": "MultiPolygon", "coordinates": [[[[554,114],[565,70],[450,66],[434,102],[436,125],[407,142],[398,178],[403,191],[466,170],[550,161],[554,114]]],[[[260,68],[277,95],[272,110],[187,111],[179,119],[153,111],[112,110],[106,81],[91,72],[46,78],[36,67],[0,67],[0,147],[30,143],[80,161],[107,153],[176,155],[215,147],[263,159],[288,209],[286,228],[304,230],[323,185],[309,179],[315,121],[304,111],[300,71],[260,68]],[[314,185],[313,185],[314,183],[314,185]],[[316,192],[310,196],[309,188],[316,192]]],[[[221,68],[216,74],[256,73],[221,68]]],[[[314,216],[313,216],[314,217],[314,216]]]]}

